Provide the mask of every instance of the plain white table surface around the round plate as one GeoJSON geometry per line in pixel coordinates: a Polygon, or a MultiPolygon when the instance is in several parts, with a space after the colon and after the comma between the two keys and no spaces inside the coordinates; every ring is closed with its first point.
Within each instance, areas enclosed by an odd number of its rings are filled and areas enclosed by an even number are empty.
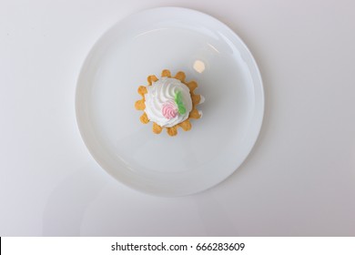
{"type": "Polygon", "coordinates": [[[1,0],[0,236],[354,236],[354,9],[345,0],[1,0]],[[173,199],[106,174],[75,115],[76,78],[96,39],[127,15],[168,5],[230,26],[266,93],[242,166],[173,199]]]}

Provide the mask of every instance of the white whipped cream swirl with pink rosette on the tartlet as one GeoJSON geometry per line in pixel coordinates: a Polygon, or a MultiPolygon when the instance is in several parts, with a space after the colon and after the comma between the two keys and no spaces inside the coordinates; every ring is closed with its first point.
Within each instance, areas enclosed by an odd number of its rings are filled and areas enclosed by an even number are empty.
{"type": "Polygon", "coordinates": [[[192,101],[188,86],[176,78],[161,77],[151,86],[147,87],[145,94],[147,117],[160,127],[171,128],[188,118],[192,110],[192,101]],[[186,108],[184,114],[177,110],[175,97],[181,93],[182,103],[186,108]]]}

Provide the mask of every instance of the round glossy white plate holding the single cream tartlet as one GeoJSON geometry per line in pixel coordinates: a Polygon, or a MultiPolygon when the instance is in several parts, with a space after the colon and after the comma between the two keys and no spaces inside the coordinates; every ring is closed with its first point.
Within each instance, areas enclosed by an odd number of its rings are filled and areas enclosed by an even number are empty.
{"type": "Polygon", "coordinates": [[[263,111],[247,46],[217,19],[176,7],[130,15],[110,28],[86,57],[76,88],[77,123],[92,156],[119,181],[161,196],[227,179],[253,147],[263,111]],[[198,107],[203,117],[172,138],[152,133],[134,107],[137,87],[165,68],[184,71],[206,97],[198,107]]]}

